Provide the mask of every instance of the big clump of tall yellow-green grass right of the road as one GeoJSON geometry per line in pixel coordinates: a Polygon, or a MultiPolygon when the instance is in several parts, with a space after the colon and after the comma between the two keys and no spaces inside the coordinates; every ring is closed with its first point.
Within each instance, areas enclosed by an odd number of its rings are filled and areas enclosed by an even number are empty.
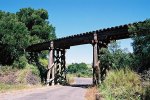
{"type": "Polygon", "coordinates": [[[144,93],[140,76],[129,68],[113,70],[100,85],[106,100],[139,100],[144,93]]]}

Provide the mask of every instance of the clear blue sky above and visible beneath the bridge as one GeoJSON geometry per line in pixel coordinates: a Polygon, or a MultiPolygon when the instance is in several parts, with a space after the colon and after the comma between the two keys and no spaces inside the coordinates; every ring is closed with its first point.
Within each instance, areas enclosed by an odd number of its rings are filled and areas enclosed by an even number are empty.
{"type": "MultiPolygon", "coordinates": [[[[16,13],[21,8],[43,8],[58,38],[118,26],[150,18],[150,0],[0,0],[0,10],[16,13]]],[[[132,40],[119,41],[132,52],[132,40]]],[[[92,45],[71,47],[67,63],[92,63],[92,45]]]]}

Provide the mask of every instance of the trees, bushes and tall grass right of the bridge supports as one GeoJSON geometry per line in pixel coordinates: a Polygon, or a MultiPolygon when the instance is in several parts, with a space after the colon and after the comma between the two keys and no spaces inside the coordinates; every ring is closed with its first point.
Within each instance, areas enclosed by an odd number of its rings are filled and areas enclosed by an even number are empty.
{"type": "Polygon", "coordinates": [[[134,33],[131,36],[133,53],[120,49],[116,42],[111,43],[108,49],[101,49],[101,66],[108,68],[99,86],[99,93],[104,99],[149,100],[149,30],[150,20],[130,27],[129,31],[134,33]]]}

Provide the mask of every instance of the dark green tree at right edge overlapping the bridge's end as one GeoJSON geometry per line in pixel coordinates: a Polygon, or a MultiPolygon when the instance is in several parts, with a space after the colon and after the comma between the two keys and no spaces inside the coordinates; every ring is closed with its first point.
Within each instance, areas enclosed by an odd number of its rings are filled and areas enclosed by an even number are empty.
{"type": "Polygon", "coordinates": [[[135,69],[142,72],[150,68],[150,19],[131,26],[129,31],[134,33],[132,45],[135,54],[135,69]]]}

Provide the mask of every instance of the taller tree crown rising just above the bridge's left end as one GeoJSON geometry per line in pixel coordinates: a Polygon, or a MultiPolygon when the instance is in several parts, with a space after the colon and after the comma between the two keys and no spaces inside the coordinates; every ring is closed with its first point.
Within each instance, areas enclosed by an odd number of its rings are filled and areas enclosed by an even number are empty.
{"type": "Polygon", "coordinates": [[[47,21],[48,12],[46,10],[23,8],[20,9],[16,15],[19,21],[25,23],[30,31],[30,35],[39,38],[39,42],[45,42],[56,38],[55,28],[47,21]]]}

